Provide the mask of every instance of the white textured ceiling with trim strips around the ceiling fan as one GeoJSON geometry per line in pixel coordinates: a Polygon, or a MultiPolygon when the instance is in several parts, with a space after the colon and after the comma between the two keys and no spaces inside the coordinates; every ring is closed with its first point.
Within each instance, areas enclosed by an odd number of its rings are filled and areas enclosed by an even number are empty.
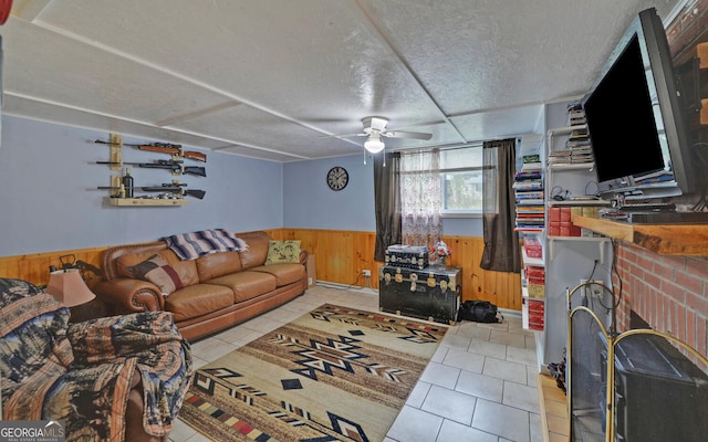
{"type": "Polygon", "coordinates": [[[15,0],[2,112],[273,161],[538,140],[625,27],[679,0],[15,0]]]}

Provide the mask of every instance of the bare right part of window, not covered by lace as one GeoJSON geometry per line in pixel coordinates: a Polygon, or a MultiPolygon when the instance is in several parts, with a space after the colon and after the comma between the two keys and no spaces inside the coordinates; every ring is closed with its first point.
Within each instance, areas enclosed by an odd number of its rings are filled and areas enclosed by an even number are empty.
{"type": "Polygon", "coordinates": [[[440,150],[442,215],[482,213],[482,145],[440,150]]]}

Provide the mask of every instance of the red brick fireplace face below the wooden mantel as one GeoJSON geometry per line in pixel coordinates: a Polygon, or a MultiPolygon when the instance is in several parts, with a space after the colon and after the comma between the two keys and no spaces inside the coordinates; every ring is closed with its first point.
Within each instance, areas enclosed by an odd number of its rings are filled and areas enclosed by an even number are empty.
{"type": "Polygon", "coordinates": [[[652,328],[667,333],[708,355],[708,260],[664,256],[621,242],[613,275],[617,330],[629,329],[634,311],[652,328]],[[622,290],[622,292],[620,292],[622,290]]]}

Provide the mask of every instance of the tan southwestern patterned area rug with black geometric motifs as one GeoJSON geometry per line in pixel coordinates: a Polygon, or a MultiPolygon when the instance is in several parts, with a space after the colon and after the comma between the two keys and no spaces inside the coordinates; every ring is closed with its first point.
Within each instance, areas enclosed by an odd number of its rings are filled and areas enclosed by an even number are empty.
{"type": "Polygon", "coordinates": [[[197,370],[179,417],[215,441],[383,441],[446,332],[325,304],[197,370]]]}

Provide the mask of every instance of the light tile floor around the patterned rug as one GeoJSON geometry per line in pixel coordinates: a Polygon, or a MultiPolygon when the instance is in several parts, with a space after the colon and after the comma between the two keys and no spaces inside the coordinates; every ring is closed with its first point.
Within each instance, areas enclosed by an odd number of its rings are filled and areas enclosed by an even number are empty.
{"type": "MultiPolygon", "coordinates": [[[[317,285],[292,302],[192,344],[195,368],[324,303],[378,312],[378,293],[317,285]]],[[[384,442],[541,442],[532,332],[521,317],[503,324],[462,322],[450,327],[384,442]]],[[[175,423],[173,442],[208,438],[175,423]]]]}

